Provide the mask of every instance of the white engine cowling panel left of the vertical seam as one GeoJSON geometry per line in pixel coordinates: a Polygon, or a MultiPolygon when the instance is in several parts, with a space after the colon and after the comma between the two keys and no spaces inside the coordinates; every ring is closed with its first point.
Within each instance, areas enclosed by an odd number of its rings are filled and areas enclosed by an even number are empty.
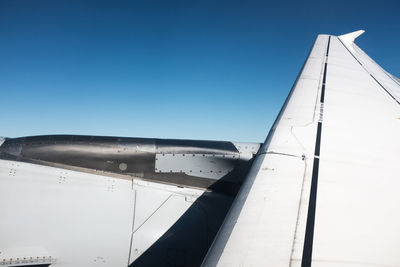
{"type": "Polygon", "coordinates": [[[0,262],[18,250],[57,266],[126,266],[132,207],[131,181],[0,160],[0,262]]]}

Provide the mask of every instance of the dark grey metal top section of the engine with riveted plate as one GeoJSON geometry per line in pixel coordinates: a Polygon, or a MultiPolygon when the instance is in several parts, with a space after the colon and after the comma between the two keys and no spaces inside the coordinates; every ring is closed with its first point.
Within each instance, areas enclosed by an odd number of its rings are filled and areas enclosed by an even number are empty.
{"type": "Polygon", "coordinates": [[[246,150],[226,141],[44,135],[6,138],[0,158],[235,194],[260,144],[243,146],[246,150]]]}

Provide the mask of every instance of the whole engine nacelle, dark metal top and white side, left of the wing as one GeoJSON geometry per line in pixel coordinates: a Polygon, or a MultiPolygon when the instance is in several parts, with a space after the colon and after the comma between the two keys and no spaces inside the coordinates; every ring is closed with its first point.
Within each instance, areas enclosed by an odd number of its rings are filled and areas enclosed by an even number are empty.
{"type": "Polygon", "coordinates": [[[0,139],[0,266],[199,266],[259,147],[0,139]]]}

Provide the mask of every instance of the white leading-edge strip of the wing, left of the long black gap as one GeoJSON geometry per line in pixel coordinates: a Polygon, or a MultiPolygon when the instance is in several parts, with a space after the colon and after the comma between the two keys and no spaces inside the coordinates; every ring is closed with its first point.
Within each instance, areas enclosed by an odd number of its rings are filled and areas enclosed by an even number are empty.
{"type": "MultiPolygon", "coordinates": [[[[295,236],[304,236],[305,221],[298,222],[299,206],[307,208],[308,203],[311,170],[307,166],[312,166],[319,119],[316,102],[327,41],[326,35],[317,38],[204,266],[290,264],[292,249],[301,242],[295,236]]],[[[300,216],[306,216],[303,209],[300,216]]]]}

